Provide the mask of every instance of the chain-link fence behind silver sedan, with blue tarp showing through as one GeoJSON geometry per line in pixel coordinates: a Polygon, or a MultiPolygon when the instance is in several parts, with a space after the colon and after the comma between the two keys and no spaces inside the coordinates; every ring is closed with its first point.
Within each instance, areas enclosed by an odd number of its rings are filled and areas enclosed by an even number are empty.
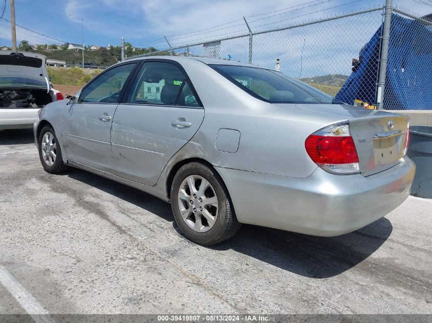
{"type": "MultiPolygon", "coordinates": [[[[393,8],[384,109],[432,109],[432,22],[393,8]]],[[[382,66],[384,7],[250,30],[219,39],[170,44],[129,57],[175,55],[226,59],[280,70],[337,100],[375,108],[382,66]]],[[[246,27],[246,25],[245,25],[246,27]]],[[[384,29],[385,30],[385,29],[384,29]]]]}

